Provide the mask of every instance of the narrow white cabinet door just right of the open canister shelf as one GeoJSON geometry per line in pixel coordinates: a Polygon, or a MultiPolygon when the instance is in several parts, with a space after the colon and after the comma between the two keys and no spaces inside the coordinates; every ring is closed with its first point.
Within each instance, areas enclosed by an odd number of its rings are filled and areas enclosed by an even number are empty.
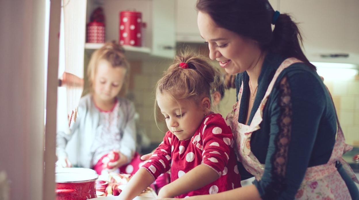
{"type": "Polygon", "coordinates": [[[153,0],[152,16],[152,54],[173,58],[176,53],[174,0],[153,0]]]}

